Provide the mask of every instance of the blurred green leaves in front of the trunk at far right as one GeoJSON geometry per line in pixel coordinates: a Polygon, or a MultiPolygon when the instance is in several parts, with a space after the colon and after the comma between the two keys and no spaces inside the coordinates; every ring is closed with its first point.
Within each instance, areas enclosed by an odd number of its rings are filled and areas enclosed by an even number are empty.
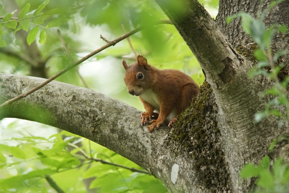
{"type": "MultiPolygon", "coordinates": [[[[239,13],[227,18],[229,23],[236,17],[242,18],[243,30],[251,35],[258,48],[255,50],[254,55],[258,63],[253,67],[249,73],[249,77],[254,76],[266,76],[274,82],[271,89],[264,91],[261,97],[270,96],[270,100],[265,105],[265,110],[255,114],[255,121],[260,122],[264,117],[276,116],[283,119],[279,121],[279,127],[284,124],[284,121],[289,120],[289,100],[287,98],[287,85],[289,83],[289,76],[283,81],[278,78],[278,72],[283,63],[279,63],[278,59],[285,53],[284,50],[272,53],[270,44],[273,36],[277,33],[286,33],[286,25],[274,24],[266,27],[263,23],[266,13],[276,4],[281,3],[283,0],[272,1],[270,5],[260,14],[259,19],[252,18],[247,13],[239,13]],[[267,69],[270,69],[269,71],[267,69]],[[281,108],[286,109],[286,113],[280,111],[281,108]]],[[[260,3],[263,3],[261,1],[260,3]]],[[[260,4],[262,5],[262,4],[260,4]]],[[[261,7],[261,6],[260,6],[261,7]]],[[[286,138],[286,137],[285,137],[286,138]]],[[[269,147],[269,150],[273,150],[275,144],[285,139],[284,136],[280,136],[274,140],[269,147]]],[[[241,177],[243,179],[257,177],[257,187],[255,192],[287,192],[289,188],[289,165],[287,162],[282,161],[281,158],[277,158],[273,162],[273,166],[270,169],[270,160],[268,156],[265,156],[258,166],[254,166],[248,163],[241,171],[241,177]]]]}

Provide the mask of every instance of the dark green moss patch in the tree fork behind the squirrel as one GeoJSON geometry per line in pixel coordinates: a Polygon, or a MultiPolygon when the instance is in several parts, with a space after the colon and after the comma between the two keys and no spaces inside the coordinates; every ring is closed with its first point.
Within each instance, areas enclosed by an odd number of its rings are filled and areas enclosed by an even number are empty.
{"type": "Polygon", "coordinates": [[[229,192],[227,164],[220,143],[221,133],[216,122],[217,106],[212,88],[205,82],[190,107],[177,120],[167,144],[177,154],[192,156],[198,183],[211,192],[229,192]]]}

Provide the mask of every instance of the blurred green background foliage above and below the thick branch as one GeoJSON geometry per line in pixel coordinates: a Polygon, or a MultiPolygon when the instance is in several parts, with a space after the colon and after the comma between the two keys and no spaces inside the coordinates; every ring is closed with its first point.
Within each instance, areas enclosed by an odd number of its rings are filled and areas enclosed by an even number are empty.
{"type": "MultiPolygon", "coordinates": [[[[14,32],[4,25],[3,17],[11,13],[11,19],[17,19],[27,3],[30,3],[27,15],[33,16],[44,0],[0,0],[2,40],[7,45],[0,48],[0,73],[49,78],[105,45],[100,34],[111,41],[125,33],[123,27],[129,32],[146,26],[130,37],[136,54],[145,56],[155,67],[178,69],[198,84],[203,82],[196,58],[175,27],[150,25],[168,19],[154,1],[46,2],[41,16],[43,23],[31,19],[28,32],[23,29],[14,32]],[[39,26],[39,32],[36,40],[28,45],[28,33],[35,26],[39,26]],[[40,38],[42,30],[47,35],[45,41],[40,38]]],[[[212,17],[216,16],[218,0],[200,3],[212,17]]],[[[127,40],[105,49],[56,80],[87,87],[144,110],[138,98],[126,91],[123,59],[128,63],[136,60],[127,40]]],[[[64,192],[167,192],[161,181],[148,174],[87,157],[142,169],[107,148],[64,131],[60,133],[56,128],[25,120],[5,118],[0,121],[0,192],[56,192],[49,185],[49,179],[43,178],[45,176],[50,176],[64,192]]]]}

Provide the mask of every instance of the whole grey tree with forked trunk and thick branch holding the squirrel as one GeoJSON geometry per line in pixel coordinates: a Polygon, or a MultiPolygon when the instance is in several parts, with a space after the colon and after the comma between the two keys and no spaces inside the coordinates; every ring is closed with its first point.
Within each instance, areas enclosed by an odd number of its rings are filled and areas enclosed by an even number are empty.
{"type": "MultiPolygon", "coordinates": [[[[240,169],[245,163],[258,163],[268,154],[271,141],[289,131],[287,122],[277,126],[277,117],[255,122],[255,113],[262,111],[269,99],[259,94],[273,82],[262,76],[248,78],[256,61],[239,52],[248,49],[252,53],[248,46],[252,40],[240,29],[240,19],[230,25],[225,23],[226,16],[239,11],[257,15],[258,2],[221,0],[216,22],[198,1],[156,2],[183,36],[207,80],[173,129],[162,126],[149,133],[139,124],[140,111],[88,89],[59,82],[51,82],[4,106],[0,119],[37,121],[86,137],[150,171],[169,192],[247,192],[252,182],[240,179],[240,169]]],[[[266,15],[266,24],[288,25],[289,2],[277,6],[266,15]]],[[[288,51],[288,34],[284,36],[275,36],[274,51],[288,51]]],[[[283,78],[288,74],[286,57],[282,58],[286,64],[280,76],[283,78]]],[[[42,81],[0,74],[0,102],[42,81]]],[[[275,159],[286,150],[280,144],[270,156],[275,159]]]]}

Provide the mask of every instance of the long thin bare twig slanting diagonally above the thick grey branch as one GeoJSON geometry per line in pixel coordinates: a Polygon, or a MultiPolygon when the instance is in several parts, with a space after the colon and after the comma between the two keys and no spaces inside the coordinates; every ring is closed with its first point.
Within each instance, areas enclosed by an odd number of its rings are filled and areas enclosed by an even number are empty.
{"type": "MultiPolygon", "coordinates": [[[[159,24],[172,24],[172,22],[170,20],[160,20],[156,23],[154,23],[153,25],[159,25],[159,24]]],[[[41,87],[45,86],[46,84],[48,84],[49,82],[51,82],[52,80],[54,80],[55,78],[59,77],[60,75],[64,74],[65,72],[67,72],[68,70],[74,68],[75,66],[79,65],[80,63],[83,63],[85,60],[87,60],[88,58],[91,58],[92,56],[94,56],[95,54],[101,52],[102,50],[110,47],[110,46],[113,46],[115,45],[116,43],[124,40],[125,38],[135,34],[136,32],[139,32],[140,30],[144,29],[144,26],[140,26],[140,27],[137,27],[135,28],[134,30],[131,30],[130,32],[127,32],[126,34],[116,38],[115,40],[113,41],[110,41],[109,43],[107,43],[106,45],[100,47],[99,49],[96,49],[95,51],[91,52],[90,54],[84,56],[83,58],[79,59],[77,62],[75,62],[74,64],[72,65],[69,65],[68,67],[64,68],[63,70],[61,70],[60,72],[56,73],[55,75],[51,76],[49,79],[45,80],[44,82],[42,82],[41,84],[39,84],[38,86],[34,87],[33,89],[23,93],[22,95],[19,95],[15,98],[12,98],[10,100],[7,100],[5,101],[4,103],[2,103],[0,105],[0,107],[3,107],[7,104],[10,104],[16,100],[19,100],[21,98],[24,98],[26,97],[27,95],[37,91],[38,89],[40,89],[41,87]]]]}

